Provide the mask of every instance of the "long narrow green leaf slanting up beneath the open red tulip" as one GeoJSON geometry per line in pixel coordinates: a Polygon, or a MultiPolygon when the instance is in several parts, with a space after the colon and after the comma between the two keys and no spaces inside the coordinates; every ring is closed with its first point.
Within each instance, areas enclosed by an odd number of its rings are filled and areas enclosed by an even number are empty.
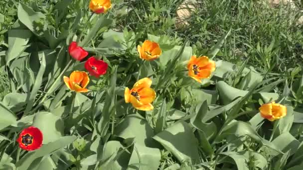
{"type": "Polygon", "coordinates": [[[20,170],[27,170],[28,167],[30,167],[31,164],[33,164],[34,161],[41,161],[41,158],[52,154],[53,152],[71,144],[73,141],[75,141],[77,137],[75,136],[64,136],[60,139],[50,142],[46,145],[42,145],[42,147],[36,151],[29,152],[26,155],[24,155],[17,163],[16,167],[20,170]]]}

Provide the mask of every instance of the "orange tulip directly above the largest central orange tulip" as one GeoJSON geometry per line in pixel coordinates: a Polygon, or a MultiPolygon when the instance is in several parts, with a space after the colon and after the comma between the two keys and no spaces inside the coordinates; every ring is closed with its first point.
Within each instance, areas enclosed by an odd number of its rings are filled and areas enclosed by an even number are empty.
{"type": "Polygon", "coordinates": [[[140,58],[148,61],[159,58],[162,53],[159,44],[150,40],[145,40],[142,44],[142,47],[138,45],[137,49],[140,58]]]}

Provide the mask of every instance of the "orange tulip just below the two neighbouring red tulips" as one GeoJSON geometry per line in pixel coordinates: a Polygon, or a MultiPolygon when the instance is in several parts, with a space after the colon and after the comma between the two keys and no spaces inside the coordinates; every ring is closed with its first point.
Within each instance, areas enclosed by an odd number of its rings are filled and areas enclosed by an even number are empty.
{"type": "Polygon", "coordinates": [[[69,78],[63,77],[65,85],[72,91],[87,92],[85,88],[89,83],[89,77],[86,72],[74,71],[70,74],[69,78]]]}

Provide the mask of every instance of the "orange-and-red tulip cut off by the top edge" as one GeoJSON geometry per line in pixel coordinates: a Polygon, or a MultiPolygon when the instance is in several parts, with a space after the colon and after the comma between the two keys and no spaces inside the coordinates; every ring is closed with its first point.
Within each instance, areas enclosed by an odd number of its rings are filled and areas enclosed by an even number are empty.
{"type": "Polygon", "coordinates": [[[111,0],[91,0],[89,3],[89,8],[95,13],[106,13],[111,7],[111,0]]]}

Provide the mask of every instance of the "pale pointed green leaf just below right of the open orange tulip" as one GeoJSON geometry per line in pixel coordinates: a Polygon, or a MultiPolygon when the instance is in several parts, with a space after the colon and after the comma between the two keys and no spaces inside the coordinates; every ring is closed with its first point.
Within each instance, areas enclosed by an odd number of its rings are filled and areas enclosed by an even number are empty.
{"type": "Polygon", "coordinates": [[[229,104],[237,97],[245,96],[249,91],[240,90],[234,88],[227,83],[220,81],[216,84],[217,90],[219,92],[219,98],[223,102],[223,104],[229,104]]]}

